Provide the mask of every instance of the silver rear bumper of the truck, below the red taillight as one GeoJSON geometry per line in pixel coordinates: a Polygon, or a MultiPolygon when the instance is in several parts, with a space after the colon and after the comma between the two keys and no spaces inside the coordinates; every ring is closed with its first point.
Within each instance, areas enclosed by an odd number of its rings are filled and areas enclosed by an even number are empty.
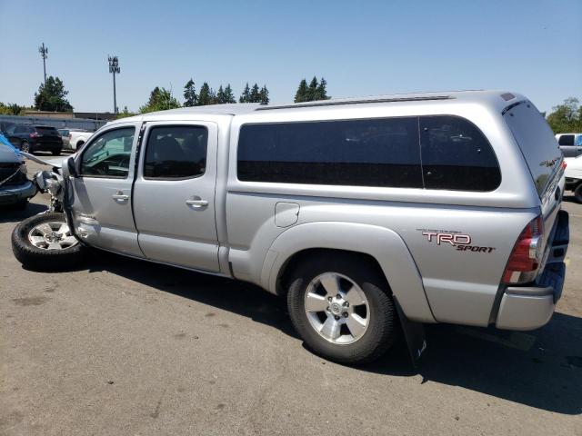
{"type": "Polygon", "coordinates": [[[568,243],[568,215],[566,211],[560,211],[544,271],[534,285],[506,289],[497,312],[498,329],[534,330],[550,320],[562,296],[568,243]]]}

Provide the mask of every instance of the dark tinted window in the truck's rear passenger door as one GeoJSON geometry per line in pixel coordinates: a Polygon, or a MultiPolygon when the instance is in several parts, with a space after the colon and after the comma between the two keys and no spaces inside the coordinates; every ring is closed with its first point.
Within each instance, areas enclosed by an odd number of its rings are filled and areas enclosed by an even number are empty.
{"type": "Polygon", "coordinates": [[[146,144],[146,179],[185,179],[206,172],[208,131],[198,125],[152,127],[146,144]]]}

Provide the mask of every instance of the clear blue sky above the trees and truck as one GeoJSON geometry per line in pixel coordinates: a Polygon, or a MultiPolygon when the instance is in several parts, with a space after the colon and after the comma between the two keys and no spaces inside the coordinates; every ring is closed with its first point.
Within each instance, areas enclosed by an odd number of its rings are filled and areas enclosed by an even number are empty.
{"type": "Polygon", "coordinates": [[[335,97],[504,89],[542,111],[582,97],[582,0],[0,0],[0,29],[0,102],[33,104],[44,42],[80,112],[113,111],[107,54],[120,110],[156,85],[183,101],[190,77],[236,96],[266,84],[273,103],[314,74],[335,97]]]}

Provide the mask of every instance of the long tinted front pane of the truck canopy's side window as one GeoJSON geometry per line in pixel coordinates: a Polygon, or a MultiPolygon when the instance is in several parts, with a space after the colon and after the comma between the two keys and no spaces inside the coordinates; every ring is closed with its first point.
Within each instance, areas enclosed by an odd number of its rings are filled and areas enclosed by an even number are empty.
{"type": "Polygon", "coordinates": [[[245,124],[238,179],[421,188],[416,117],[245,124]]]}

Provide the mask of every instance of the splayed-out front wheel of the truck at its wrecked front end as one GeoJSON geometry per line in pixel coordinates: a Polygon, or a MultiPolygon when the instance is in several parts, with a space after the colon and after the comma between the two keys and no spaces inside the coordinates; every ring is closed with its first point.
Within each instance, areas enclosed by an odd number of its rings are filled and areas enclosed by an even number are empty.
{"type": "Polygon", "coordinates": [[[64,213],[42,213],[16,225],[12,232],[15,258],[35,271],[70,269],[83,260],[83,245],[68,227],[64,213]]]}

